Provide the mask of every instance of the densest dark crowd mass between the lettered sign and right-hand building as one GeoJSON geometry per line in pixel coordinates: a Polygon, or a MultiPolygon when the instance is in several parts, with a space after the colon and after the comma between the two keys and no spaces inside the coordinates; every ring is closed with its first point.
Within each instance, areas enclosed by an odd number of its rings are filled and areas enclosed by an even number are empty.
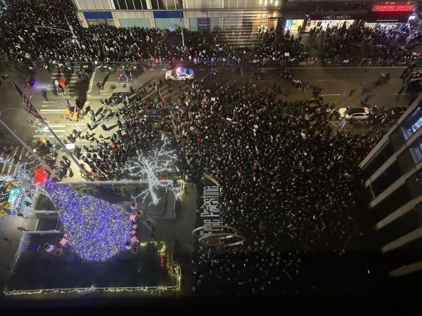
{"type": "Polygon", "coordinates": [[[268,294],[299,273],[298,249],[344,254],[357,234],[357,162],[376,133],[333,132],[333,114],[318,93],[286,102],[274,91],[211,81],[193,84],[175,106],[190,168],[222,185],[223,222],[248,238],[237,251],[197,246],[194,290],[205,285],[268,294]]]}

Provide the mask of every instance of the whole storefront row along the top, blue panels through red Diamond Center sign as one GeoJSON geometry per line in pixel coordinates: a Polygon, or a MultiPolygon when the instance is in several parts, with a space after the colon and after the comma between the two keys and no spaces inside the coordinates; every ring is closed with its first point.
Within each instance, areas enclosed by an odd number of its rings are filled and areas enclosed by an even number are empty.
{"type": "Polygon", "coordinates": [[[72,0],[82,26],[184,26],[191,31],[262,29],[309,32],[355,22],[407,22],[408,1],[312,0],[72,0]]]}

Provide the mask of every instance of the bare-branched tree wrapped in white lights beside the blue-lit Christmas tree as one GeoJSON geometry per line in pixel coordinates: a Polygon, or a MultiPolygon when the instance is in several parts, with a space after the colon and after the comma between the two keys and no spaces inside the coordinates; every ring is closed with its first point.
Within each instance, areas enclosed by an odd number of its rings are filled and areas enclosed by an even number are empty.
{"type": "Polygon", "coordinates": [[[156,192],[160,188],[164,188],[166,191],[170,190],[177,199],[181,199],[179,185],[174,185],[172,180],[160,180],[160,174],[177,171],[176,150],[166,150],[165,147],[163,145],[159,150],[155,150],[152,157],[142,156],[142,153],[137,151],[137,157],[127,162],[127,166],[122,169],[122,173],[128,173],[132,180],[135,178],[148,182],[146,190],[143,190],[134,199],[141,198],[142,202],[146,202],[146,199],[151,197],[149,204],[158,204],[159,199],[156,192]]]}

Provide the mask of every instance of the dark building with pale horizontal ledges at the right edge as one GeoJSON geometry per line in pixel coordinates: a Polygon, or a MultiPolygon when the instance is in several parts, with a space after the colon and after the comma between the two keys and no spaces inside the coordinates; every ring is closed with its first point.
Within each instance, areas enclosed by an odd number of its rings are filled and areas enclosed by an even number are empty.
{"type": "MultiPolygon", "coordinates": [[[[369,238],[392,278],[422,275],[422,95],[360,164],[369,238]]],[[[401,282],[401,281],[400,281],[401,282]]]]}

